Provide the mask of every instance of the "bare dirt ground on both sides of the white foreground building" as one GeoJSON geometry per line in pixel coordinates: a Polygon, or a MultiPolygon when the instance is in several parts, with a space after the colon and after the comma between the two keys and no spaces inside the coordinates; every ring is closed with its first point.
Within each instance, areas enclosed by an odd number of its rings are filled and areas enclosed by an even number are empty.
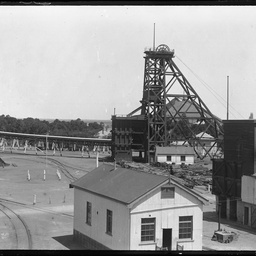
{"type": "MultiPolygon", "coordinates": [[[[76,178],[80,178],[96,167],[96,155],[81,157],[80,152],[63,152],[63,156],[47,157],[38,152],[16,151],[1,153],[0,158],[9,166],[0,166],[0,203],[13,209],[27,224],[32,237],[34,250],[80,250],[84,249],[73,241],[73,189],[70,180],[61,173],[57,176],[58,162],[76,178]],[[57,160],[58,162],[52,162],[57,160]],[[30,180],[28,180],[28,170],[30,180]],[[45,180],[44,180],[45,170],[45,180]],[[9,200],[9,201],[6,201],[9,200]],[[18,202],[14,203],[14,202],[18,202]]],[[[107,156],[101,154],[100,157],[107,156]]],[[[99,165],[102,162],[99,162],[99,165]]],[[[221,220],[221,228],[238,234],[237,241],[222,244],[211,241],[218,228],[215,211],[215,196],[205,187],[196,187],[209,204],[204,206],[203,249],[221,251],[256,250],[256,233],[237,223],[221,220]]],[[[0,213],[0,249],[27,249],[25,243],[17,246],[17,230],[3,213],[0,213]]]]}

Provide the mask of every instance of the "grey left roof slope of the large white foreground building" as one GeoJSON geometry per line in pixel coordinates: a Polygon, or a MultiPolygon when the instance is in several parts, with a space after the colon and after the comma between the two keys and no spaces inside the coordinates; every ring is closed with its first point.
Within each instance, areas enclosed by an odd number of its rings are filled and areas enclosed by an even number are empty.
{"type": "Polygon", "coordinates": [[[166,176],[103,164],[71,183],[71,187],[130,204],[167,180],[166,176]]]}

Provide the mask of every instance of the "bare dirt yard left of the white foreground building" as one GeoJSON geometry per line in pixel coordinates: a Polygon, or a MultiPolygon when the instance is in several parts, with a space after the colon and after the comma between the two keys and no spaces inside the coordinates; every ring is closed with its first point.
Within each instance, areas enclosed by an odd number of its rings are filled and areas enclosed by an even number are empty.
{"type": "MultiPolygon", "coordinates": [[[[72,240],[74,195],[69,188],[70,180],[61,172],[61,179],[58,178],[59,166],[51,160],[65,164],[66,169],[79,178],[96,167],[96,155],[91,154],[88,158],[81,157],[80,152],[67,151],[61,157],[50,153],[47,159],[44,154],[35,155],[33,151],[26,155],[22,151],[1,153],[1,159],[9,166],[0,167],[0,200],[9,200],[2,202],[26,222],[32,236],[32,249],[82,249],[72,240]]],[[[17,232],[11,221],[3,214],[0,218],[0,248],[27,249],[17,248],[17,232]]]]}

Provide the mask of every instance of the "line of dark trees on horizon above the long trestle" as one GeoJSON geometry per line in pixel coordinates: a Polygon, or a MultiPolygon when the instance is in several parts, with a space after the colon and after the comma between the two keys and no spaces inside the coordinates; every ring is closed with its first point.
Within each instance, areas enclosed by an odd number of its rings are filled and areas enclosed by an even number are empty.
{"type": "Polygon", "coordinates": [[[40,120],[38,118],[16,119],[9,115],[0,116],[0,130],[6,132],[46,134],[70,137],[96,137],[98,132],[104,128],[104,123],[85,123],[80,118],[71,121],[53,122],[40,120]]]}

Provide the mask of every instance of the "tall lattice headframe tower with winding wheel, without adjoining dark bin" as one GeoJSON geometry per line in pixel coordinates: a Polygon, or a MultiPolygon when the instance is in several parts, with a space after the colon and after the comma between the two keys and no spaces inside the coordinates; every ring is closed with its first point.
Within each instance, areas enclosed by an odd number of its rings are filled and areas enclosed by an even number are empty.
{"type": "Polygon", "coordinates": [[[147,161],[151,162],[156,146],[178,141],[192,146],[201,159],[220,156],[222,121],[210,112],[178,69],[173,61],[174,50],[161,44],[156,49],[146,49],[145,54],[141,106],[128,116],[140,110],[148,120],[147,161]],[[210,146],[205,134],[211,138],[210,146]]]}

